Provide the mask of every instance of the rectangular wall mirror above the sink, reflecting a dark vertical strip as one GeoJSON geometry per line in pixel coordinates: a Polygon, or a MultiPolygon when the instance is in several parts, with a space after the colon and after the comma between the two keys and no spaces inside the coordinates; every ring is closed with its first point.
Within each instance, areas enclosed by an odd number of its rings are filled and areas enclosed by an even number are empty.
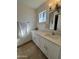
{"type": "Polygon", "coordinates": [[[59,15],[60,13],[58,11],[50,12],[49,13],[49,27],[53,30],[58,30],[58,23],[59,23],[59,15]]]}

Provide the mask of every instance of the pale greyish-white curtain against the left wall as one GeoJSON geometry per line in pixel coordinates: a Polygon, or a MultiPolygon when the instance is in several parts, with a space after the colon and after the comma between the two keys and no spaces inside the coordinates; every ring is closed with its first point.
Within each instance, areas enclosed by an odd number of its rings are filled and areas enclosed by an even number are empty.
{"type": "Polygon", "coordinates": [[[17,22],[17,38],[22,38],[27,33],[27,23],[17,22]]]}

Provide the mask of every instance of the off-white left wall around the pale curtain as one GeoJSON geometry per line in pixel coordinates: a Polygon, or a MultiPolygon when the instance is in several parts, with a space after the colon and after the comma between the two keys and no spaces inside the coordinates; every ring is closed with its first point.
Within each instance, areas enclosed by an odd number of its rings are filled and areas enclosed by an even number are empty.
{"type": "Polygon", "coordinates": [[[31,30],[36,27],[35,10],[25,5],[22,0],[17,0],[17,21],[28,23],[28,34],[18,40],[18,45],[21,45],[31,40],[31,30]]]}

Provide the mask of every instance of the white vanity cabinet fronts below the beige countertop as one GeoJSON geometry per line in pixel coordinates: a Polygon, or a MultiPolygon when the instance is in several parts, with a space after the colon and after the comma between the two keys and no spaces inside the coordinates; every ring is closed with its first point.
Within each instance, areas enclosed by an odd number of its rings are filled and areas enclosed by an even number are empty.
{"type": "Polygon", "coordinates": [[[60,59],[60,46],[34,32],[32,39],[48,59],[60,59]]]}

